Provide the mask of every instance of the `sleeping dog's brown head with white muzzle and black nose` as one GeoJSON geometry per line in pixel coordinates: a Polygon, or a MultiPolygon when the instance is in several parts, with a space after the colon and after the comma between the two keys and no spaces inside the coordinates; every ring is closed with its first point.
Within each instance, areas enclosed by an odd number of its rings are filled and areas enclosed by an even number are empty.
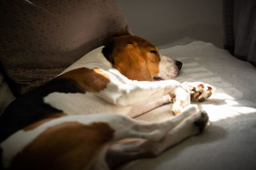
{"type": "Polygon", "coordinates": [[[115,32],[102,53],[115,69],[131,80],[157,81],[175,78],[182,63],[160,55],[156,46],[129,31],[115,32]]]}

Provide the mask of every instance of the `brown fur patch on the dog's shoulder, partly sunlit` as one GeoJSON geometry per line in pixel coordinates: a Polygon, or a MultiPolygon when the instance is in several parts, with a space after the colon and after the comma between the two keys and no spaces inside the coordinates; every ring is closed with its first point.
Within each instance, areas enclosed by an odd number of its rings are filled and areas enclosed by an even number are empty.
{"type": "Polygon", "coordinates": [[[106,89],[110,82],[108,74],[103,73],[98,68],[88,69],[86,67],[68,71],[58,78],[72,78],[76,80],[86,92],[100,92],[106,89]]]}

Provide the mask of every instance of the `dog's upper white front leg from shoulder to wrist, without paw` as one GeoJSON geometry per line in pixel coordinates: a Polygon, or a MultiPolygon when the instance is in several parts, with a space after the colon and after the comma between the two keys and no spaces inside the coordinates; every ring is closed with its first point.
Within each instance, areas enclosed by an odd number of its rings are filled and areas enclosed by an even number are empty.
{"type": "Polygon", "coordinates": [[[111,81],[106,89],[97,93],[97,96],[118,106],[138,106],[150,103],[164,95],[171,94],[177,87],[181,87],[181,84],[175,80],[132,81],[122,74],[118,76],[108,74],[111,81]]]}

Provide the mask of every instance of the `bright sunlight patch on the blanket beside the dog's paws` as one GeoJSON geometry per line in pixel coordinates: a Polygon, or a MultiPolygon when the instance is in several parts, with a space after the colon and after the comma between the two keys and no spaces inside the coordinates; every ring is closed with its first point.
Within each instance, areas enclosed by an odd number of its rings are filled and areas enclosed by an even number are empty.
{"type": "Polygon", "coordinates": [[[207,111],[211,122],[256,112],[256,108],[241,106],[236,99],[225,93],[212,95],[205,103],[199,104],[199,108],[207,111]]]}

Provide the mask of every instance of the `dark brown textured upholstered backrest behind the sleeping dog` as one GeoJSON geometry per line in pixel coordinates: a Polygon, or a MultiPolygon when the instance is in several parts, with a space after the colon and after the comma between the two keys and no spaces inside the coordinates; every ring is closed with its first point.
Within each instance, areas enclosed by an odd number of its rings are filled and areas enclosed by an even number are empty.
{"type": "Polygon", "coordinates": [[[115,0],[1,0],[0,20],[1,71],[18,95],[127,27],[115,0]]]}

